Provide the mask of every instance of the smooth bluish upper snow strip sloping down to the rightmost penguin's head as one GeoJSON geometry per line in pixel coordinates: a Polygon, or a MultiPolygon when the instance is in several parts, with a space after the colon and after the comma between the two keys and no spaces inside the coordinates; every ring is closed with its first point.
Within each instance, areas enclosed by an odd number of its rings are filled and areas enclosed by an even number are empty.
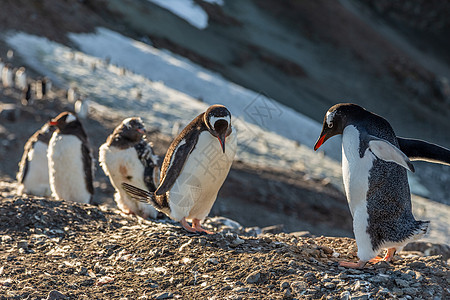
{"type": "MultiPolygon", "coordinates": [[[[94,34],[70,34],[69,37],[87,54],[111,58],[114,64],[150,80],[162,81],[208,104],[222,103],[235,116],[300,144],[312,148],[320,134],[318,122],[168,51],[103,28],[94,34]]],[[[340,151],[336,149],[340,149],[340,138],[327,141],[321,149],[339,160],[340,151]]]]}

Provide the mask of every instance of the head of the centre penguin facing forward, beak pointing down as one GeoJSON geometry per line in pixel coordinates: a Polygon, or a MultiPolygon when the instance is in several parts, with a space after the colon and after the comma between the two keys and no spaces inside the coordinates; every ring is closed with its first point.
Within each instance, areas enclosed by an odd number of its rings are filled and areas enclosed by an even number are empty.
{"type": "Polygon", "coordinates": [[[231,113],[223,105],[210,106],[204,114],[204,122],[209,132],[219,139],[223,153],[225,153],[225,139],[231,133],[231,113]]]}

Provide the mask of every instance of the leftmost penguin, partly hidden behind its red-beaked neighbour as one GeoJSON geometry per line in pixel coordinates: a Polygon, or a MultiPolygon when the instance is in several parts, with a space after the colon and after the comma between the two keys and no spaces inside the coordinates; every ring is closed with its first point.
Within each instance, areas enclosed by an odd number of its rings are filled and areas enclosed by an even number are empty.
{"type": "Polygon", "coordinates": [[[26,193],[48,197],[51,195],[48,180],[47,149],[55,127],[47,122],[36,131],[25,144],[22,159],[19,163],[17,181],[19,195],[26,193]]]}

